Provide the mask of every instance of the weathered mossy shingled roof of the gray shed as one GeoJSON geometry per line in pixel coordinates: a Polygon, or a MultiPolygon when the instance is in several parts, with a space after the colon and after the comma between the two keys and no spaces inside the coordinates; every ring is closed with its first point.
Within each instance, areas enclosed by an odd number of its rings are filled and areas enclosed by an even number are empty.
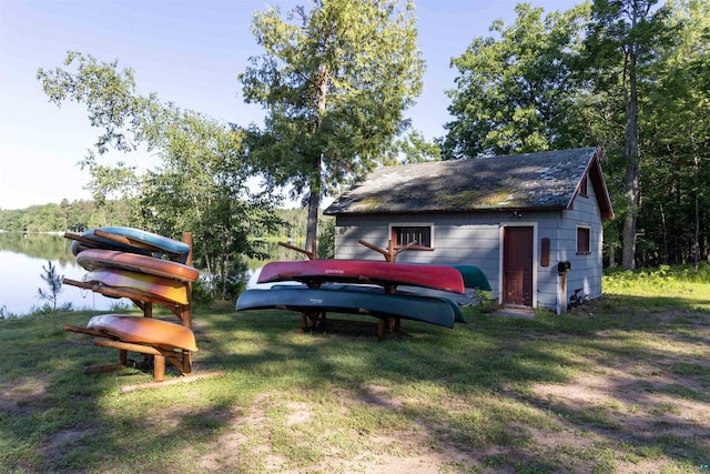
{"type": "Polygon", "coordinates": [[[379,168],[326,214],[570,209],[589,173],[604,219],[613,219],[595,148],[379,168]]]}

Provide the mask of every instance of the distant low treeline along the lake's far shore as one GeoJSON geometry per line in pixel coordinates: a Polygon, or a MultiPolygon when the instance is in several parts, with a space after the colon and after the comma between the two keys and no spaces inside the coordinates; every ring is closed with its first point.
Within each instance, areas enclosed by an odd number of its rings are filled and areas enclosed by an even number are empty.
{"type": "MultiPolygon", "coordinates": [[[[0,209],[0,231],[6,232],[82,232],[104,225],[141,226],[129,201],[63,200],[60,204],[32,205],[19,210],[0,209]]],[[[283,209],[278,216],[287,225],[281,235],[258,235],[260,239],[305,241],[307,214],[303,209],[283,209]]],[[[190,229],[184,229],[190,231],[190,229]]],[[[256,235],[255,235],[256,236],[256,235]]]]}

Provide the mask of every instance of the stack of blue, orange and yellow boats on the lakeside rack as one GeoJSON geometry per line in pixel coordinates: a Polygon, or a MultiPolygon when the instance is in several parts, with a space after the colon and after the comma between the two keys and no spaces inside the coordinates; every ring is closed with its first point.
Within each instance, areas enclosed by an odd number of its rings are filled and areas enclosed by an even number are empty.
{"type": "MultiPolygon", "coordinates": [[[[191,283],[200,273],[185,263],[190,244],[132,228],[99,228],[65,236],[73,240],[72,253],[88,272],[80,282],[65,279],[64,283],[110,297],[129,297],[143,310],[143,316],[104,314],[92,317],[85,330],[64,326],[65,330],[154,349],[130,346],[150,354],[168,350],[173,363],[170,351],[197,350],[190,302],[191,283]],[[153,304],[168,306],[181,324],[153,319],[153,304]]],[[[176,366],[190,372],[189,362],[176,366]]]]}

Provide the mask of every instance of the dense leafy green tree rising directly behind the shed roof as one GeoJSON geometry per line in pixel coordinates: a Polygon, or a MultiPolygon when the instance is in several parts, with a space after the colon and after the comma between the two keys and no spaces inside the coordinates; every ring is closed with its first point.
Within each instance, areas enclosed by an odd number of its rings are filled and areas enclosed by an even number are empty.
{"type": "Polygon", "coordinates": [[[495,21],[499,38],[476,38],[452,60],[456,89],[447,91],[445,159],[541,151],[577,144],[570,132],[570,57],[581,46],[588,6],[542,18],[541,8],[516,7],[515,24],[495,21]]]}

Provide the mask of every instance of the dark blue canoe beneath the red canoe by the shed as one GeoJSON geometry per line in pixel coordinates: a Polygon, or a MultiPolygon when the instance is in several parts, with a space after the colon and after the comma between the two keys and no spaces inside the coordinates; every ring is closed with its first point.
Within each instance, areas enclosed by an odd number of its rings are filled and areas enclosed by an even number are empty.
{"type": "Polygon", "coordinates": [[[445,299],[388,294],[384,291],[273,288],[246,290],[236,300],[236,311],[266,309],[400,317],[449,329],[454,327],[455,320],[453,306],[445,299]]]}

